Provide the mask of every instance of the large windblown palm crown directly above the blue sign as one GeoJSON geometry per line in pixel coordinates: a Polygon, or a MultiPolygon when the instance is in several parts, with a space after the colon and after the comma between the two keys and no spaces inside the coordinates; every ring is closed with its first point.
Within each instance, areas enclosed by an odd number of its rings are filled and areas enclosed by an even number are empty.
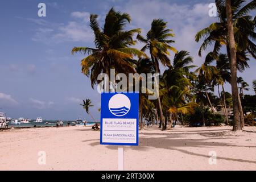
{"type": "Polygon", "coordinates": [[[98,15],[90,15],[90,27],[94,32],[96,48],[75,47],[76,52],[88,54],[81,60],[82,73],[90,77],[92,88],[96,84],[100,73],[110,76],[110,69],[115,68],[116,73],[135,73],[133,56],[144,56],[145,53],[135,48],[130,48],[136,43],[133,40],[135,33],[141,32],[139,28],[125,31],[127,23],[130,23],[129,14],[120,13],[113,8],[106,15],[104,28],[100,28],[97,22],[98,15]]]}

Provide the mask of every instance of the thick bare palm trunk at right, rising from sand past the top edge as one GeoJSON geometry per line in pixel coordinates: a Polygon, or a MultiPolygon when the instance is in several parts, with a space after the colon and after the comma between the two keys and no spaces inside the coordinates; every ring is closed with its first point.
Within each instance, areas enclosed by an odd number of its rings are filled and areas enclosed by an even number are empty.
{"type": "Polygon", "coordinates": [[[230,71],[231,71],[231,87],[232,87],[232,101],[234,110],[234,125],[233,131],[241,130],[241,123],[239,118],[238,108],[238,89],[237,89],[237,55],[236,55],[236,42],[234,39],[233,20],[232,20],[232,7],[231,0],[226,0],[226,17],[228,24],[228,42],[230,49],[230,71]]]}

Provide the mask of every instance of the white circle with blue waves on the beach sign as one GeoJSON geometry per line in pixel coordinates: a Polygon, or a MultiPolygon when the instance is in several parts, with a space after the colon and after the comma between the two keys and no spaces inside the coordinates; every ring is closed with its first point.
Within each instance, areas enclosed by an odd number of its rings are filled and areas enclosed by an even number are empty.
{"type": "Polygon", "coordinates": [[[124,94],[115,94],[109,100],[109,110],[115,116],[123,116],[129,112],[131,102],[124,94]]]}

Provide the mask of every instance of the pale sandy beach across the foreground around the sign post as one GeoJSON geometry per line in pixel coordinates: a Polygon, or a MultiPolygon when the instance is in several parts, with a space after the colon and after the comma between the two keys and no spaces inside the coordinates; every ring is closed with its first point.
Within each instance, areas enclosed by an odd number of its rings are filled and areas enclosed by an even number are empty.
{"type": "MultiPolygon", "coordinates": [[[[255,170],[256,127],[176,127],[140,131],[139,146],[125,146],[126,170],[255,170]],[[209,164],[209,152],[217,164],[209,164]]],[[[212,160],[211,160],[212,161],[212,160]]],[[[0,170],[117,170],[117,146],[100,145],[90,127],[0,132],[0,170]],[[46,152],[46,165],[38,152],[46,152]]]]}

